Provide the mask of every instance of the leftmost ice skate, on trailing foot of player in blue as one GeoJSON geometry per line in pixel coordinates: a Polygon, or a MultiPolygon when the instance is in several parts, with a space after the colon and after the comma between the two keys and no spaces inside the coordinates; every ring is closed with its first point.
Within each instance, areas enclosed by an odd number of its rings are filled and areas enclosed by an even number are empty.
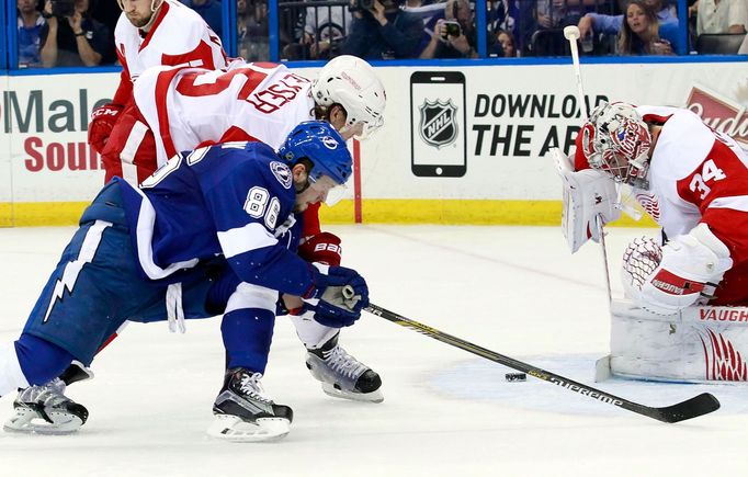
{"type": "Polygon", "coordinates": [[[15,414],[5,421],[9,432],[70,434],[86,423],[89,411],[65,396],[65,382],[55,378],[43,386],[30,386],[19,391],[13,401],[15,414]]]}

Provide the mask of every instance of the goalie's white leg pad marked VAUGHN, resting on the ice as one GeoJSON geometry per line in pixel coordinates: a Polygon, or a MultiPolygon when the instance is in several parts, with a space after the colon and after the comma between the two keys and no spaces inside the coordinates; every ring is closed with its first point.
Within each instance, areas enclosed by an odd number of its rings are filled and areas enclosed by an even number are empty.
{"type": "Polygon", "coordinates": [[[748,307],[692,306],[661,316],[614,299],[611,315],[614,376],[680,383],[748,381],[748,307]]]}

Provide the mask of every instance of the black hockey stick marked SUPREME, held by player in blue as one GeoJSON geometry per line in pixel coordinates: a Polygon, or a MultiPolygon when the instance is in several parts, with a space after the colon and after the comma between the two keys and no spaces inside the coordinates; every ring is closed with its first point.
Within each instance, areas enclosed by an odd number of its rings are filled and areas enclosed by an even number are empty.
{"type": "Polygon", "coordinates": [[[370,304],[366,308],[364,308],[364,310],[401,327],[410,328],[411,330],[418,331],[419,333],[431,337],[434,340],[441,341],[442,343],[451,344],[455,348],[460,348],[461,350],[477,354],[480,357],[485,357],[486,360],[503,364],[505,366],[511,367],[512,370],[521,371],[539,379],[553,383],[563,388],[579,393],[583,396],[589,396],[592,399],[597,399],[601,402],[617,406],[627,411],[636,412],[637,414],[646,416],[651,419],[657,419],[661,422],[684,421],[687,419],[698,418],[699,416],[704,416],[719,409],[719,401],[709,393],[700,394],[699,396],[692,397],[691,399],[687,399],[682,402],[678,402],[677,405],[667,406],[664,408],[653,408],[637,402],[632,402],[627,399],[613,396],[581,383],[577,383],[576,381],[571,381],[558,374],[551,373],[531,364],[514,360],[513,357],[505,356],[503,354],[478,347],[477,344],[473,344],[457,337],[453,337],[452,334],[439,331],[435,328],[431,328],[396,313],[386,310],[381,306],[370,304]]]}

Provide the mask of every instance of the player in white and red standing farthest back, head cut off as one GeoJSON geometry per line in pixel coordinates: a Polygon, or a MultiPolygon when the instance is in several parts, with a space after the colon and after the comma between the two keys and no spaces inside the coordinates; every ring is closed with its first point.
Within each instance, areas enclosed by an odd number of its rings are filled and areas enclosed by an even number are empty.
{"type": "MultiPolygon", "coordinates": [[[[122,64],[120,86],[112,102],[93,111],[89,144],[99,152],[133,104],[133,83],[148,68],[191,66],[226,68],[220,38],[193,10],[175,0],[117,0],[122,14],[114,30],[117,58],[122,64]]],[[[124,177],[126,167],[115,172],[124,177]]]]}

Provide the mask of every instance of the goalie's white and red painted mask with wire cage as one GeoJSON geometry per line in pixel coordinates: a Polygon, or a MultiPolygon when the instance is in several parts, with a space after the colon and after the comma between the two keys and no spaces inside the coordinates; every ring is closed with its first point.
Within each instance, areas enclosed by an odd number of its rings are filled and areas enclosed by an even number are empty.
{"type": "Polygon", "coordinates": [[[616,182],[648,189],[651,136],[634,107],[602,104],[592,111],[579,134],[592,169],[610,174],[616,182]]]}

